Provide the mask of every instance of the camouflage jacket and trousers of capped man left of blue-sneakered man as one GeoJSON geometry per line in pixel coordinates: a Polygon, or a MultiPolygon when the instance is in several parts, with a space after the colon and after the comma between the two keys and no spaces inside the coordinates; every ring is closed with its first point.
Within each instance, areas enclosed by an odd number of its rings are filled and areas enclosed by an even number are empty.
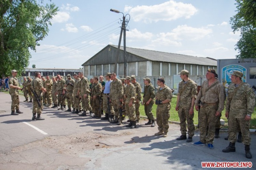
{"type": "Polygon", "coordinates": [[[188,123],[188,137],[193,137],[195,132],[195,125],[194,125],[194,113],[189,115],[189,110],[191,108],[192,98],[196,99],[197,94],[197,86],[196,83],[189,79],[186,83],[184,80],[180,81],[179,83],[179,92],[178,96],[180,96],[180,101],[178,104],[179,110],[179,118],[180,118],[180,132],[181,135],[186,136],[187,129],[186,129],[186,120],[188,123]]]}

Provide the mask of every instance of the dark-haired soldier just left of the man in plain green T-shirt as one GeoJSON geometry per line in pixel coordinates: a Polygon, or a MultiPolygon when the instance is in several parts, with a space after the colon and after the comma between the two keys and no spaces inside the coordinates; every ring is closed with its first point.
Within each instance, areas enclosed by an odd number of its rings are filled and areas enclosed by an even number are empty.
{"type": "Polygon", "coordinates": [[[93,109],[94,116],[93,118],[100,119],[101,118],[101,109],[100,109],[100,96],[102,92],[101,83],[99,83],[99,78],[97,76],[93,77],[94,85],[92,86],[92,100],[93,100],[93,109]],[[100,109],[100,110],[99,110],[100,109]]]}

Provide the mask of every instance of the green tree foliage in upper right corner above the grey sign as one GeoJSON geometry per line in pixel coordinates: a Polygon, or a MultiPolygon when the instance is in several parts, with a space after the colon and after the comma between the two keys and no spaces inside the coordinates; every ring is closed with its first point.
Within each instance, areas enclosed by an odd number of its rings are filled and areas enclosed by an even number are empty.
{"type": "Polygon", "coordinates": [[[230,18],[233,32],[241,32],[236,58],[256,58],[256,1],[236,0],[237,14],[230,18]]]}

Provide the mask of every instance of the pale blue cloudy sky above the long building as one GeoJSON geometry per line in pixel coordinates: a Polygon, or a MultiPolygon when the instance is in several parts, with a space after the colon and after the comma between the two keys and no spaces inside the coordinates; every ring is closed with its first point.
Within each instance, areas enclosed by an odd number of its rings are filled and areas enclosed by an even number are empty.
{"type": "MultiPolygon", "coordinates": [[[[49,3],[45,0],[44,3],[49,3]]],[[[108,44],[118,45],[123,14],[126,47],[232,59],[240,33],[234,0],[52,0],[59,7],[48,36],[31,51],[29,67],[79,69],[108,44]],[[110,9],[122,13],[115,13],[110,9]],[[130,18],[130,19],[129,19],[130,18]]],[[[123,38],[121,42],[123,46],[123,38]]]]}

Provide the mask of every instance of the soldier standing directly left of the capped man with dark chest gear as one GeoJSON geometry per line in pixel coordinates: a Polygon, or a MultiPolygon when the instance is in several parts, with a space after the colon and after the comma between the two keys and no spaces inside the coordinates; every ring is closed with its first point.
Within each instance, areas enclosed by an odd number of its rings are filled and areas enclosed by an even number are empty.
{"type": "Polygon", "coordinates": [[[60,74],[57,74],[57,91],[55,95],[58,94],[58,102],[60,102],[60,108],[58,110],[65,110],[66,109],[66,102],[65,102],[65,80],[60,77],[60,74]]]}

